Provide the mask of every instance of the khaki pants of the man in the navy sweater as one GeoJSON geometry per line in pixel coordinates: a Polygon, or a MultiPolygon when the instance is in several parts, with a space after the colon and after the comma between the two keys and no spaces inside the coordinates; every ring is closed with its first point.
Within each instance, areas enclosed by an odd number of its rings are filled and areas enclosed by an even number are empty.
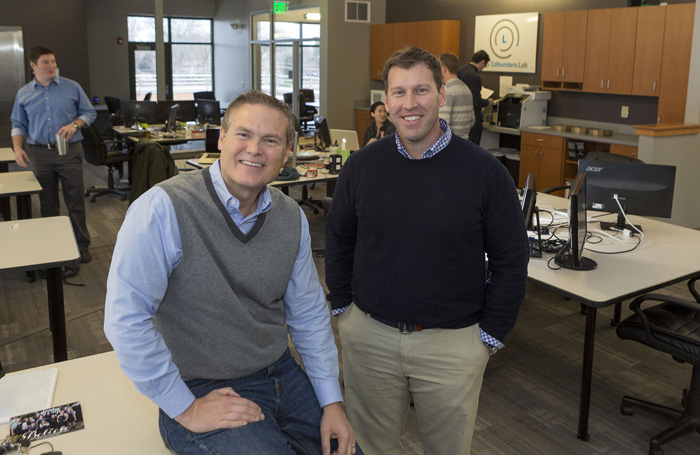
{"type": "Polygon", "coordinates": [[[426,455],[469,453],[489,359],[478,324],[402,334],[351,305],[338,329],[348,419],[367,455],[399,455],[411,397],[426,455]]]}

